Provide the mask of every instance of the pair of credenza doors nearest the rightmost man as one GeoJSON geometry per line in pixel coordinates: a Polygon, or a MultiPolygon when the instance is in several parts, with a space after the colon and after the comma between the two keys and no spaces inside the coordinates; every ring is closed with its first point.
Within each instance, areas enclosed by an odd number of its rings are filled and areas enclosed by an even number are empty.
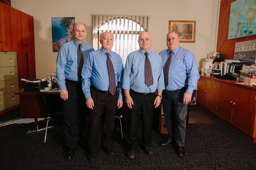
{"type": "Polygon", "coordinates": [[[216,113],[218,81],[200,77],[197,84],[197,103],[216,113]]]}

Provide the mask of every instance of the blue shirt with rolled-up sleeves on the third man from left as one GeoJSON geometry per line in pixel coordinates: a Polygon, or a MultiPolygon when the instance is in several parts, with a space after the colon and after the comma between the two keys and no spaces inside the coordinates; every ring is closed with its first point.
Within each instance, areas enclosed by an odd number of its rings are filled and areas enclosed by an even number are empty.
{"type": "Polygon", "coordinates": [[[152,68],[154,84],[149,87],[145,84],[145,51],[139,49],[131,52],[127,56],[125,68],[123,89],[134,90],[138,93],[153,93],[156,90],[164,90],[164,74],[162,59],[157,53],[149,50],[148,59],[152,68]]]}

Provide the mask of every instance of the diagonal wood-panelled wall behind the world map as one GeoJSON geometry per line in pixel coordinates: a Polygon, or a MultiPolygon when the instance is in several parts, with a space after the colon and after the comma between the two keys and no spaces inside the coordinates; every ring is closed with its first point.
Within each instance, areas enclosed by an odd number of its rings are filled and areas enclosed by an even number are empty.
{"type": "Polygon", "coordinates": [[[236,42],[249,41],[249,40],[256,39],[256,35],[243,37],[243,38],[235,38],[231,40],[227,39],[229,15],[230,15],[230,4],[233,1],[235,0],[222,0],[220,2],[217,52],[222,53],[222,60],[234,58],[236,42]]]}

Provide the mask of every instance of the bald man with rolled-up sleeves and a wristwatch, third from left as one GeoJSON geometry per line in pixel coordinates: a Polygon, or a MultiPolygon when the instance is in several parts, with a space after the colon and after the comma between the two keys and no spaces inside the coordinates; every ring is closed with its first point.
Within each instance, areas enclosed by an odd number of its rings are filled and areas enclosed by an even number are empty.
{"type": "Polygon", "coordinates": [[[138,147],[140,112],[143,119],[142,148],[147,155],[154,153],[151,148],[154,109],[161,103],[161,95],[165,86],[162,59],[161,56],[150,50],[151,42],[150,34],[141,32],[138,40],[140,49],[127,56],[124,69],[123,89],[125,102],[129,108],[127,123],[127,157],[129,159],[135,158],[135,150],[138,147]],[[148,85],[145,80],[151,76],[145,76],[147,58],[150,61],[149,65],[153,76],[153,81],[148,85]]]}

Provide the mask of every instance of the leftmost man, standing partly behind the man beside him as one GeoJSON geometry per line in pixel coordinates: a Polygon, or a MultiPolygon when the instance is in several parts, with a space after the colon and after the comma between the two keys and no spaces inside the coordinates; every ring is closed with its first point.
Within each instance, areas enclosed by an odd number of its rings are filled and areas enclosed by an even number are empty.
{"type": "Polygon", "coordinates": [[[75,155],[76,145],[89,147],[84,142],[82,121],[85,117],[85,96],[83,95],[81,75],[78,73],[78,48],[83,53],[82,64],[86,55],[94,49],[84,43],[86,26],[76,23],[73,26],[74,40],[63,44],[57,57],[56,80],[60,87],[61,110],[64,120],[64,134],[68,147],[65,159],[75,155]]]}

